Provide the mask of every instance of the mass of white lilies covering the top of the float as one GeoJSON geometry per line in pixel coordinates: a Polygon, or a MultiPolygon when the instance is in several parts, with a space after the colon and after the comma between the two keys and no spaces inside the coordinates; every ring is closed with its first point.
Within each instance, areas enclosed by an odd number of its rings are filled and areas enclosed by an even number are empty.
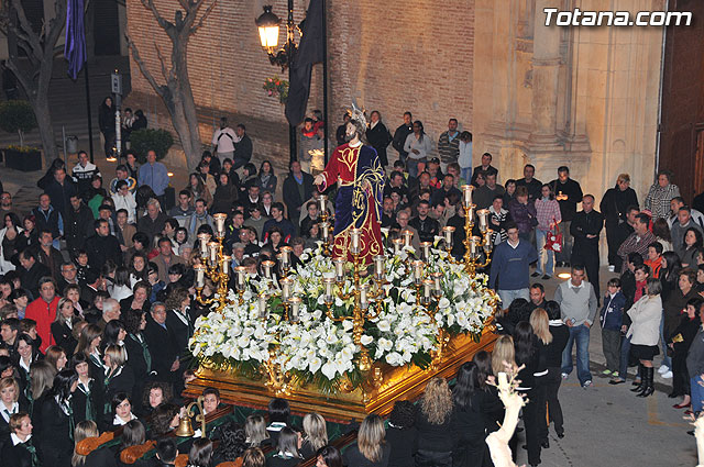
{"type": "MultiPolygon", "coordinates": [[[[451,336],[469,333],[479,338],[496,303],[495,296],[486,288],[485,275],[470,277],[463,265],[454,264],[447,252],[435,248],[426,262],[426,275],[440,273],[436,276],[442,294],[433,298],[428,307],[417,303],[413,270],[407,262],[413,253],[413,248],[406,247],[397,255],[391,252],[387,255],[384,294],[370,304],[371,318],[365,321],[361,336],[373,360],[393,367],[428,365],[431,353],[437,349],[440,329],[451,336]]],[[[352,321],[333,321],[327,315],[323,278],[334,274],[332,260],[322,255],[320,247],[306,249],[304,256],[305,263],[289,275],[295,279],[293,293],[302,300],[297,321],[283,319],[280,292],[274,282],[250,279],[250,289],[241,304],[230,291],[229,298],[234,304],[196,321],[196,332],[189,343],[194,356],[211,365],[256,370],[271,358],[270,351],[274,349],[274,363],[282,371],[299,379],[330,390],[336,389],[336,381],[342,377],[354,380],[352,376],[360,374],[361,347],[354,344],[352,321]],[[267,318],[260,318],[261,293],[271,296],[267,318]]],[[[371,276],[361,280],[373,283],[371,276]]],[[[336,297],[331,305],[334,316],[352,315],[353,285],[348,277],[339,286],[349,298],[336,297]]]]}

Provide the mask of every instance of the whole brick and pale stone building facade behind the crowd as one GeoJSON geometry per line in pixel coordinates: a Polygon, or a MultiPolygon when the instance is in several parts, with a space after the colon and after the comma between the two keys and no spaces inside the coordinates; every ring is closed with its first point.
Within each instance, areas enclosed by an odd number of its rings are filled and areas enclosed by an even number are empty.
{"type": "MultiPolygon", "coordinates": [[[[155,0],[173,18],[177,0],[155,0]]],[[[268,3],[268,2],[267,2],[268,3]]],[[[280,18],[286,1],[272,1],[280,18]]],[[[296,22],[307,0],[296,0],[296,22]]],[[[664,0],[328,0],[330,131],[354,99],[381,111],[387,126],[406,110],[437,141],[448,119],[474,135],[475,165],[494,155],[502,180],[521,177],[526,163],[549,181],[557,167],[601,194],[629,173],[645,198],[657,153],[663,30],[546,27],[543,9],[659,10],[664,0]]],[[[258,44],[254,19],[263,2],[220,0],[189,46],[189,71],[209,142],[222,114],[243,122],[255,157],[288,160],[287,124],[277,99],[262,86],[282,76],[258,44]]],[[[140,0],[128,0],[131,37],[151,69],[155,44],[168,41],[140,0]]],[[[284,31],[279,41],[284,40],[284,31]]],[[[166,112],[132,64],[129,103],[168,126],[166,112]]],[[[309,109],[322,108],[317,66],[309,109]]],[[[391,157],[395,156],[389,151],[391,157]]]]}

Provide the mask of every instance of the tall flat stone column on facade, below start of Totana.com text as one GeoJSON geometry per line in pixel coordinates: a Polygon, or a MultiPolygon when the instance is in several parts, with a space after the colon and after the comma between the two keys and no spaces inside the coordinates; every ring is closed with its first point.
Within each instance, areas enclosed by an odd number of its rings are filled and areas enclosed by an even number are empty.
{"type": "Polygon", "coordinates": [[[557,144],[558,74],[560,68],[560,26],[546,26],[546,8],[560,8],[559,0],[536,0],[532,54],[534,151],[557,144]]]}

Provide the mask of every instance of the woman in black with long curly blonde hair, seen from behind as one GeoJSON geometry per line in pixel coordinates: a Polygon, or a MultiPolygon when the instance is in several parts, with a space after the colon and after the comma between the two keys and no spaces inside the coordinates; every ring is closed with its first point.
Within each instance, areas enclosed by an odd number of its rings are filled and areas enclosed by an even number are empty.
{"type": "Polygon", "coordinates": [[[416,466],[452,464],[452,392],[443,378],[432,378],[416,405],[416,466]]]}

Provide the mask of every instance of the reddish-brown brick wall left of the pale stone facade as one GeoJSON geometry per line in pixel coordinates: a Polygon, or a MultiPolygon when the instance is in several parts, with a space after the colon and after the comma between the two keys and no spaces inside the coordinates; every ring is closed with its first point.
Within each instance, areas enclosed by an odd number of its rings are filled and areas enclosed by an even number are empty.
{"type": "MultiPolygon", "coordinates": [[[[154,3],[173,21],[177,0],[154,3]]],[[[273,3],[279,18],[286,18],[286,1],[266,3],[273,3]]],[[[170,43],[140,0],[128,0],[127,4],[129,34],[158,80],[155,45],[168,57],[170,43]]],[[[220,115],[230,115],[232,122],[246,124],[257,158],[273,158],[280,166],[288,160],[287,124],[283,105],[267,97],[262,86],[266,77],[284,75],[270,64],[258,43],[254,19],[261,14],[262,4],[219,0],[189,44],[189,75],[202,140],[210,141],[220,115]]],[[[474,0],[444,3],[442,8],[431,0],[388,0],[381,4],[373,0],[328,0],[331,133],[352,99],[367,111],[382,112],[392,132],[407,110],[422,120],[426,132],[436,141],[447,130],[450,116],[459,119],[461,129],[471,129],[474,0]]],[[[307,1],[295,1],[297,23],[306,5],[307,1]]],[[[282,29],[279,43],[284,38],[282,29]]],[[[161,101],[134,62],[131,67],[133,93],[128,102],[144,109],[152,122],[170,129],[161,101]]],[[[316,66],[310,110],[322,109],[321,78],[321,67],[316,66]]]]}

